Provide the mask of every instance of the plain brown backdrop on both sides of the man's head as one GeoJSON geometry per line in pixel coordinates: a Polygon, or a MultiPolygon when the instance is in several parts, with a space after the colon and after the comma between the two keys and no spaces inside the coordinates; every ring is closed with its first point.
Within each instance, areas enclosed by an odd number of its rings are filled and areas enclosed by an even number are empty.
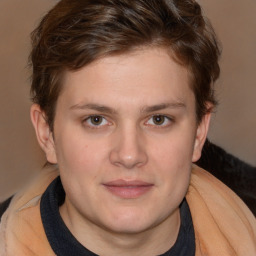
{"type": "MultiPolygon", "coordinates": [[[[45,158],[30,123],[29,34],[56,0],[0,0],[0,200],[45,158]]],[[[200,0],[222,42],[220,105],[209,137],[256,166],[256,1],[200,0]]]]}

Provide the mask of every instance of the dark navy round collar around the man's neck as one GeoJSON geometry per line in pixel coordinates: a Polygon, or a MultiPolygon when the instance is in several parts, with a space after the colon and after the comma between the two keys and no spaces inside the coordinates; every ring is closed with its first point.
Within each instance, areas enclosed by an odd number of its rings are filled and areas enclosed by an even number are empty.
{"type": "MultiPolygon", "coordinates": [[[[43,226],[52,249],[61,256],[96,256],[75,239],[60,217],[59,206],[64,199],[65,192],[58,177],[44,192],[40,204],[43,226]]],[[[194,228],[186,200],[181,203],[180,215],[181,226],[176,243],[159,256],[195,255],[194,228]]]]}

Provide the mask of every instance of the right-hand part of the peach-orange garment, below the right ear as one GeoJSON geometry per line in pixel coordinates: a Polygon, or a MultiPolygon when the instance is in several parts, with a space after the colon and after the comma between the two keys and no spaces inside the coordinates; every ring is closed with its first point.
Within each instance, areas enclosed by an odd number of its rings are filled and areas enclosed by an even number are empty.
{"type": "Polygon", "coordinates": [[[205,255],[256,255],[256,219],[224,183],[194,166],[186,199],[205,255]]]}

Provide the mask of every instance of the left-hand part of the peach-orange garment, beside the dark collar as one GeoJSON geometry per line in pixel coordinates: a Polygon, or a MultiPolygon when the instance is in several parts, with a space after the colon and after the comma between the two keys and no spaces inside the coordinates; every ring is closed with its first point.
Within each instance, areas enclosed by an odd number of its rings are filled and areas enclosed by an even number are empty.
{"type": "Polygon", "coordinates": [[[0,222],[0,255],[28,256],[36,252],[54,255],[44,232],[40,202],[57,176],[56,169],[43,169],[24,189],[1,205],[4,214],[0,222]]]}

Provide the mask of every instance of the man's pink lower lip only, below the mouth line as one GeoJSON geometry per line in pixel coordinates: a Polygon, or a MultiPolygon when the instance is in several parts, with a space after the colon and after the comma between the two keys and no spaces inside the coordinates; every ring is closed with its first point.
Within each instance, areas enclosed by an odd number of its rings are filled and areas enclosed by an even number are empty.
{"type": "Polygon", "coordinates": [[[138,198],[152,189],[152,185],[148,186],[108,186],[105,185],[106,189],[115,196],[125,199],[138,198]]]}

